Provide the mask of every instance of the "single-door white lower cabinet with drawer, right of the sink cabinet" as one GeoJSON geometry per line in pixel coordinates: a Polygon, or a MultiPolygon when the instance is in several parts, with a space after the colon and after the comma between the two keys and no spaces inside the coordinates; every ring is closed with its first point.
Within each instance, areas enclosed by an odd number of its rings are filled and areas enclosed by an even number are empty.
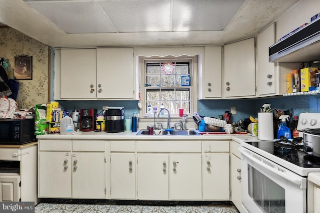
{"type": "Polygon", "coordinates": [[[203,141],[203,200],[228,201],[229,142],[203,141]]]}

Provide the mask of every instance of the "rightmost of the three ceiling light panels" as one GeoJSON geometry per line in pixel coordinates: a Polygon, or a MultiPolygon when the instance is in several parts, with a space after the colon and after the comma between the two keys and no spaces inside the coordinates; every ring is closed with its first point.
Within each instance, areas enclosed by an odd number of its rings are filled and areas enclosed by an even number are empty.
{"type": "Polygon", "coordinates": [[[244,0],[173,0],[172,31],[223,30],[244,0]]]}

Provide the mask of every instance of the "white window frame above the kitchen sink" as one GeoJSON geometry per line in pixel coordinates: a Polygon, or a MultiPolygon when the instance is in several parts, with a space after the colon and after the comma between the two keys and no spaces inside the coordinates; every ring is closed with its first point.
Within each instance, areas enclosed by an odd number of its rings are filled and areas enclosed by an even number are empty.
{"type": "MultiPolygon", "coordinates": [[[[196,111],[194,109],[197,109],[197,88],[198,88],[198,56],[165,56],[165,57],[159,57],[159,56],[152,56],[152,57],[139,57],[139,74],[140,74],[140,85],[139,85],[139,91],[140,91],[140,99],[141,99],[141,105],[142,105],[142,115],[146,115],[146,90],[147,89],[156,89],[157,87],[145,87],[146,83],[146,64],[147,63],[154,63],[154,62],[181,62],[181,61],[188,61],[189,62],[189,69],[190,69],[190,86],[181,86],[179,88],[189,88],[189,96],[190,96],[190,112],[185,113],[187,116],[193,115],[193,111],[196,111]]],[[[172,87],[173,88],[173,87],[172,87]]],[[[163,88],[165,89],[165,87],[163,88]]],[[[158,109],[159,110],[159,109],[158,109]]],[[[140,115],[140,116],[142,116],[140,115]]],[[[170,113],[170,117],[179,117],[178,113],[170,113]]],[[[153,118],[153,116],[152,116],[153,118]]]]}

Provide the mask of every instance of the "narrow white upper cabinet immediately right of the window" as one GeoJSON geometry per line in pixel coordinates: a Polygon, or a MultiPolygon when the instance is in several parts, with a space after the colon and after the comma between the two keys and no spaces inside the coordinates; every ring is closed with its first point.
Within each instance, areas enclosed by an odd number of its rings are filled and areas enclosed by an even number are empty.
{"type": "Polygon", "coordinates": [[[221,46],[204,47],[204,65],[199,71],[199,99],[222,97],[221,46]]]}

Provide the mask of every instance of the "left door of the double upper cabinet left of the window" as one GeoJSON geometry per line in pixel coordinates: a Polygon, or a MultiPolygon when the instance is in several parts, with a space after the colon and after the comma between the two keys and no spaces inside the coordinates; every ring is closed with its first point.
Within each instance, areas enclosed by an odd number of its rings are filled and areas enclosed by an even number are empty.
{"type": "Polygon", "coordinates": [[[95,49],[61,49],[60,98],[95,98],[95,49]]]}

